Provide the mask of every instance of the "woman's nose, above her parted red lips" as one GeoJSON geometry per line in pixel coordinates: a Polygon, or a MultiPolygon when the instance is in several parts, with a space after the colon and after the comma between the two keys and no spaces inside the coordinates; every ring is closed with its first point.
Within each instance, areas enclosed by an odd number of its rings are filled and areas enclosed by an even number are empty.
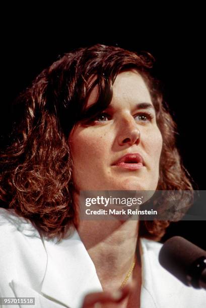
{"type": "Polygon", "coordinates": [[[141,140],[141,133],[138,125],[133,117],[124,119],[120,122],[120,130],[117,141],[119,145],[133,145],[139,144],[141,140]]]}

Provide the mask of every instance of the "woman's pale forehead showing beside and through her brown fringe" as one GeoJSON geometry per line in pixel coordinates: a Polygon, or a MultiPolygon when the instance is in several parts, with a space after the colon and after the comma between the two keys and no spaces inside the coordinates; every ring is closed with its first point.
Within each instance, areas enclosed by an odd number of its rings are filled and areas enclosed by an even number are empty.
{"type": "MultiPolygon", "coordinates": [[[[95,80],[95,76],[91,83],[95,80]]],[[[87,106],[91,106],[98,99],[98,86],[95,86],[92,90],[87,106]]],[[[152,103],[151,96],[147,85],[140,75],[140,73],[134,69],[120,72],[113,84],[113,97],[112,103],[119,100],[148,102],[152,103]]]]}

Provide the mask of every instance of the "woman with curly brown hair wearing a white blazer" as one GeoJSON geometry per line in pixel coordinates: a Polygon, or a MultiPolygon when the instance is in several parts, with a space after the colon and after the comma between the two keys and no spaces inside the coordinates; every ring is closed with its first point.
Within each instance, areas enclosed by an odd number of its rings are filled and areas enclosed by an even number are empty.
{"type": "Polygon", "coordinates": [[[79,219],[82,190],[192,190],[151,67],[150,55],[81,48],[20,97],[2,154],[2,297],[35,297],[37,307],[203,307],[202,291],[158,264],[155,241],[169,221],[79,219]]]}

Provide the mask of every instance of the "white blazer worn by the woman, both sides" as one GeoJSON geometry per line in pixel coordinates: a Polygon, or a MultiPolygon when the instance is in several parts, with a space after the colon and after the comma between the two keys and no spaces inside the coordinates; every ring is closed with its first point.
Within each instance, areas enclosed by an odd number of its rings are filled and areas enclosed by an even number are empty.
{"type": "MultiPolygon", "coordinates": [[[[4,308],[80,308],[85,294],[102,291],[76,230],[59,243],[46,240],[28,220],[1,208],[0,247],[0,297],[35,297],[35,305],[4,308]]],[[[159,265],[160,248],[141,239],[141,308],[205,308],[204,290],[185,286],[159,265]]]]}

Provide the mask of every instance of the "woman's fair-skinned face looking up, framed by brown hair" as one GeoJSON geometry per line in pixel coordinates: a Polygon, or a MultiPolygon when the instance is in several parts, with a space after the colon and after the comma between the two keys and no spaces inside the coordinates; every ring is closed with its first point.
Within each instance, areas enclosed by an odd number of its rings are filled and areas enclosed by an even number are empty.
{"type": "MultiPolygon", "coordinates": [[[[92,91],[88,106],[97,98],[92,91]]],[[[150,93],[135,70],[121,72],[108,108],[70,134],[78,190],[155,190],[162,135],[150,93]]]]}

